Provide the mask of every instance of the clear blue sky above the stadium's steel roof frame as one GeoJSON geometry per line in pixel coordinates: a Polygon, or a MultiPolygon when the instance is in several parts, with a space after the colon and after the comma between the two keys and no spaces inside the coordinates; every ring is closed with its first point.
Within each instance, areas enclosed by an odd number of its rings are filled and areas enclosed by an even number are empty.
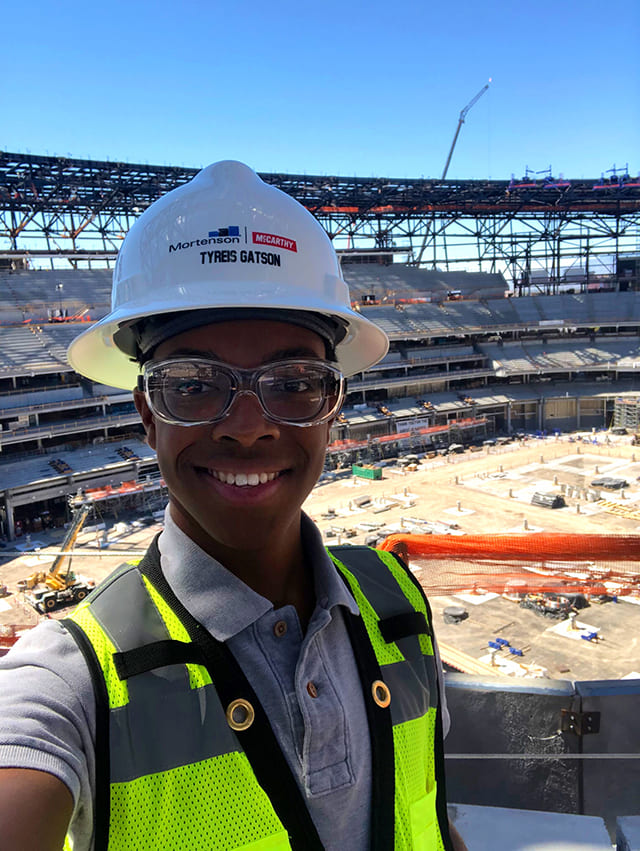
{"type": "Polygon", "coordinates": [[[640,171],[640,3],[50,3],[3,9],[0,148],[258,171],[640,171]]]}

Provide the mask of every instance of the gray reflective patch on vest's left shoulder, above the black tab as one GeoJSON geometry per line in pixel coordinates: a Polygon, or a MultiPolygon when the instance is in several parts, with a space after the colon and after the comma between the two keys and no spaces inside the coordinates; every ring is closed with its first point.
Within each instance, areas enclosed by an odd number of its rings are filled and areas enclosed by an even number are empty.
{"type": "Polygon", "coordinates": [[[91,601],[91,614],[116,650],[131,650],[171,638],[136,567],[120,573],[96,595],[91,601]]]}

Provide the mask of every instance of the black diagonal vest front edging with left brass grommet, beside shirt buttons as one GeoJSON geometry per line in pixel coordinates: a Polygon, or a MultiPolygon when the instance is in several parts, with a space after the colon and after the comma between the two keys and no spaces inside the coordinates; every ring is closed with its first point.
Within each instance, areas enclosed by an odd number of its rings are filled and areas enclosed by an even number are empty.
{"type": "MultiPolygon", "coordinates": [[[[255,721],[247,729],[236,732],[238,741],[262,786],[289,834],[293,851],[322,851],[323,846],[309,815],[306,802],[291,769],[280,749],[269,719],[229,648],[217,641],[182,605],[175,596],[160,567],[160,551],[154,540],[140,562],[145,574],[180,618],[191,640],[205,660],[223,707],[232,700],[243,698],[255,710],[255,721]]],[[[391,845],[386,848],[393,847],[391,845]]]]}

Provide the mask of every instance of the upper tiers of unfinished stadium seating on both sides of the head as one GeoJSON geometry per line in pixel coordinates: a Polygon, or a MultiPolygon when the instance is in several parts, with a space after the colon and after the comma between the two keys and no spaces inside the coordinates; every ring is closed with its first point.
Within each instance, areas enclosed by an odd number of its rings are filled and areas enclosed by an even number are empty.
{"type": "MultiPolygon", "coordinates": [[[[354,301],[373,294],[380,302],[358,309],[391,338],[380,364],[364,380],[350,382],[345,416],[352,425],[388,422],[377,403],[396,418],[424,417],[415,399],[402,398],[422,388],[434,409],[440,396],[446,411],[464,408],[467,396],[495,407],[506,404],[507,383],[509,398],[522,393],[530,399],[543,392],[540,378],[580,376],[580,386],[587,388],[589,373],[594,381],[609,375],[633,382],[640,365],[640,293],[491,297],[501,276],[458,273],[458,289],[468,293],[475,288],[480,298],[427,301],[434,293],[446,296],[454,278],[401,264],[346,264],[343,271],[354,301]],[[618,332],[612,333],[615,328],[618,332]],[[358,402],[365,407],[354,408],[358,402]]],[[[64,460],[58,447],[65,436],[77,444],[135,431],[130,393],[81,379],[67,364],[67,347],[87,322],[59,321],[56,315],[62,306],[70,315],[77,311],[97,318],[108,309],[110,287],[110,270],[0,273],[3,465],[20,451],[19,441],[31,452],[39,441],[38,451],[49,447],[54,460],[64,460]],[[52,321],[46,321],[48,316],[52,321]]],[[[128,451],[139,454],[131,447],[130,442],[121,447],[121,461],[133,458],[128,451]]]]}

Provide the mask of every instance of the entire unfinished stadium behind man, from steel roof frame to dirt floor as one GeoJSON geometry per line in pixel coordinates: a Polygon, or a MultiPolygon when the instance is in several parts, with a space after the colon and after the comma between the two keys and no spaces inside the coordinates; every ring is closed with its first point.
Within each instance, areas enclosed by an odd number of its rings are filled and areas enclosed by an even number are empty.
{"type": "MultiPolygon", "coordinates": [[[[161,528],[131,393],[66,350],[108,313],[132,218],[194,174],[0,153],[5,646],[161,528]]],[[[333,234],[352,306],[390,339],[349,378],[305,509],[328,545],[409,562],[454,670],[640,671],[640,183],[614,177],[266,176],[333,234]]]]}

